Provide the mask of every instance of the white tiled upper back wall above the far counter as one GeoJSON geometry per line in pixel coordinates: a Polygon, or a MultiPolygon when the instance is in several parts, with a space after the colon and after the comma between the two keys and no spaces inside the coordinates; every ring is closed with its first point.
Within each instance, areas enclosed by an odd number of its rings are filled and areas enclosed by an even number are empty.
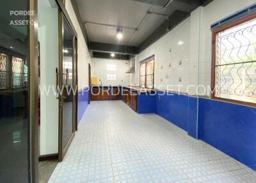
{"type": "Polygon", "coordinates": [[[125,72],[129,70],[130,62],[129,60],[92,58],[92,76],[98,77],[102,85],[128,85],[131,74],[125,72]],[[116,71],[108,71],[107,64],[115,64],[116,71]],[[107,74],[116,74],[116,81],[108,81],[107,74]]]}

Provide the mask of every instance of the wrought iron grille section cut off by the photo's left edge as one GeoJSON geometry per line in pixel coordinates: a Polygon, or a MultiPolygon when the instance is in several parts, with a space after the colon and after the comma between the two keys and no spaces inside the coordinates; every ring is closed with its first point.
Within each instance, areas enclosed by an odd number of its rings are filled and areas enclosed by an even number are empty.
{"type": "Polygon", "coordinates": [[[7,80],[8,80],[8,62],[7,55],[0,53],[0,89],[7,88],[7,80]]]}

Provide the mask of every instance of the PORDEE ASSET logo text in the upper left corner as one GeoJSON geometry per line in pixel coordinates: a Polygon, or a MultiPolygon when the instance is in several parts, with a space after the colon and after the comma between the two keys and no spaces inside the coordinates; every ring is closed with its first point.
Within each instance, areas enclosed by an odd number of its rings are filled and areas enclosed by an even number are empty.
{"type": "Polygon", "coordinates": [[[10,26],[28,26],[29,24],[31,24],[33,26],[34,24],[34,20],[24,20],[22,19],[22,17],[26,17],[26,16],[35,16],[35,11],[10,11],[10,16],[12,17],[19,17],[20,19],[14,19],[10,21],[10,26]]]}

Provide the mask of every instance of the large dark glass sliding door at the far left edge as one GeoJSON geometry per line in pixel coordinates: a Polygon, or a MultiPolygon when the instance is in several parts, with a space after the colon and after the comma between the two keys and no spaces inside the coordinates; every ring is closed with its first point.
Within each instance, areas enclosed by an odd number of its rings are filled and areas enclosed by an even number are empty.
{"type": "Polygon", "coordinates": [[[34,8],[36,0],[32,1],[2,0],[0,6],[0,182],[36,181],[36,128],[32,125],[36,118],[31,109],[37,90],[31,91],[36,79],[31,84],[30,78],[37,76],[36,64],[31,64],[36,51],[31,42],[37,40],[29,24],[33,17],[25,15],[31,4],[34,8]]]}

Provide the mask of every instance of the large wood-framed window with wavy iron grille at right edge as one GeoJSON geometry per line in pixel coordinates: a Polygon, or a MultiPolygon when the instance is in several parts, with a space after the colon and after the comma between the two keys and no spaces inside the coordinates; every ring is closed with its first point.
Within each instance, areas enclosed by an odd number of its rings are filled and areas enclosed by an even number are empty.
{"type": "Polygon", "coordinates": [[[256,16],[213,32],[212,98],[256,104],[256,16]]]}

